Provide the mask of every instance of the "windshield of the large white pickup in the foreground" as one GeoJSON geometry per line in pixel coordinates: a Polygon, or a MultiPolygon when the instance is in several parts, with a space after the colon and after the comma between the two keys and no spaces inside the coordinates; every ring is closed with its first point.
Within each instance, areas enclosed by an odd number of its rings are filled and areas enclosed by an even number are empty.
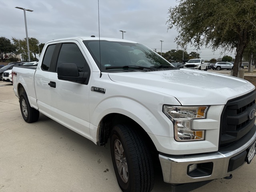
{"type": "Polygon", "coordinates": [[[98,67],[100,68],[101,63],[101,70],[105,72],[127,69],[122,68],[123,66],[172,66],[156,52],[139,43],[100,40],[100,48],[98,40],[84,40],[84,44],[98,67]]]}

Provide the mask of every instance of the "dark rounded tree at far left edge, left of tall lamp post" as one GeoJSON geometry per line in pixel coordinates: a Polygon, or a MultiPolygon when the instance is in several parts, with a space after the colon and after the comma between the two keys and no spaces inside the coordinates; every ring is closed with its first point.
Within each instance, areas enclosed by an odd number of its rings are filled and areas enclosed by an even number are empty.
{"type": "Polygon", "coordinates": [[[5,37],[0,37],[0,59],[5,62],[15,52],[15,46],[11,40],[5,37]]]}

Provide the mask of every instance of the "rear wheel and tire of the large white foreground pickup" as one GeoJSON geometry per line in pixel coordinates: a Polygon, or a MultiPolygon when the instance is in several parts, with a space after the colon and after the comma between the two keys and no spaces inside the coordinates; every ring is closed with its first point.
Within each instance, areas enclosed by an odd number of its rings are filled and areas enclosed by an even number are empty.
{"type": "Polygon", "coordinates": [[[30,106],[28,96],[24,92],[20,94],[20,111],[27,123],[36,122],[39,118],[39,111],[30,106]]]}

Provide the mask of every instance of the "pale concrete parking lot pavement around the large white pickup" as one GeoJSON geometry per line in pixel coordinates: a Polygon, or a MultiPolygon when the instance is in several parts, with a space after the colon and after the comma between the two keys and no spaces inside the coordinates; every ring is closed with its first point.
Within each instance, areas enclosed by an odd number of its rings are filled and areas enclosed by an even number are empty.
{"type": "MultiPolygon", "coordinates": [[[[12,84],[0,81],[0,192],[120,192],[109,144],[98,147],[40,114],[24,122],[12,84]]],[[[193,192],[255,192],[256,158],[193,192]]],[[[155,176],[153,192],[170,192],[155,176]]]]}

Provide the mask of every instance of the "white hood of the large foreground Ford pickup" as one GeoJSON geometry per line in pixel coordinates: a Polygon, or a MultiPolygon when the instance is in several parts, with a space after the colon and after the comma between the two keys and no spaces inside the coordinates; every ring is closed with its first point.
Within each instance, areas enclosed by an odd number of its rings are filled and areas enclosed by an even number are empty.
{"type": "Polygon", "coordinates": [[[108,75],[114,82],[173,96],[182,105],[223,105],[255,89],[241,78],[190,69],[108,75]]]}

